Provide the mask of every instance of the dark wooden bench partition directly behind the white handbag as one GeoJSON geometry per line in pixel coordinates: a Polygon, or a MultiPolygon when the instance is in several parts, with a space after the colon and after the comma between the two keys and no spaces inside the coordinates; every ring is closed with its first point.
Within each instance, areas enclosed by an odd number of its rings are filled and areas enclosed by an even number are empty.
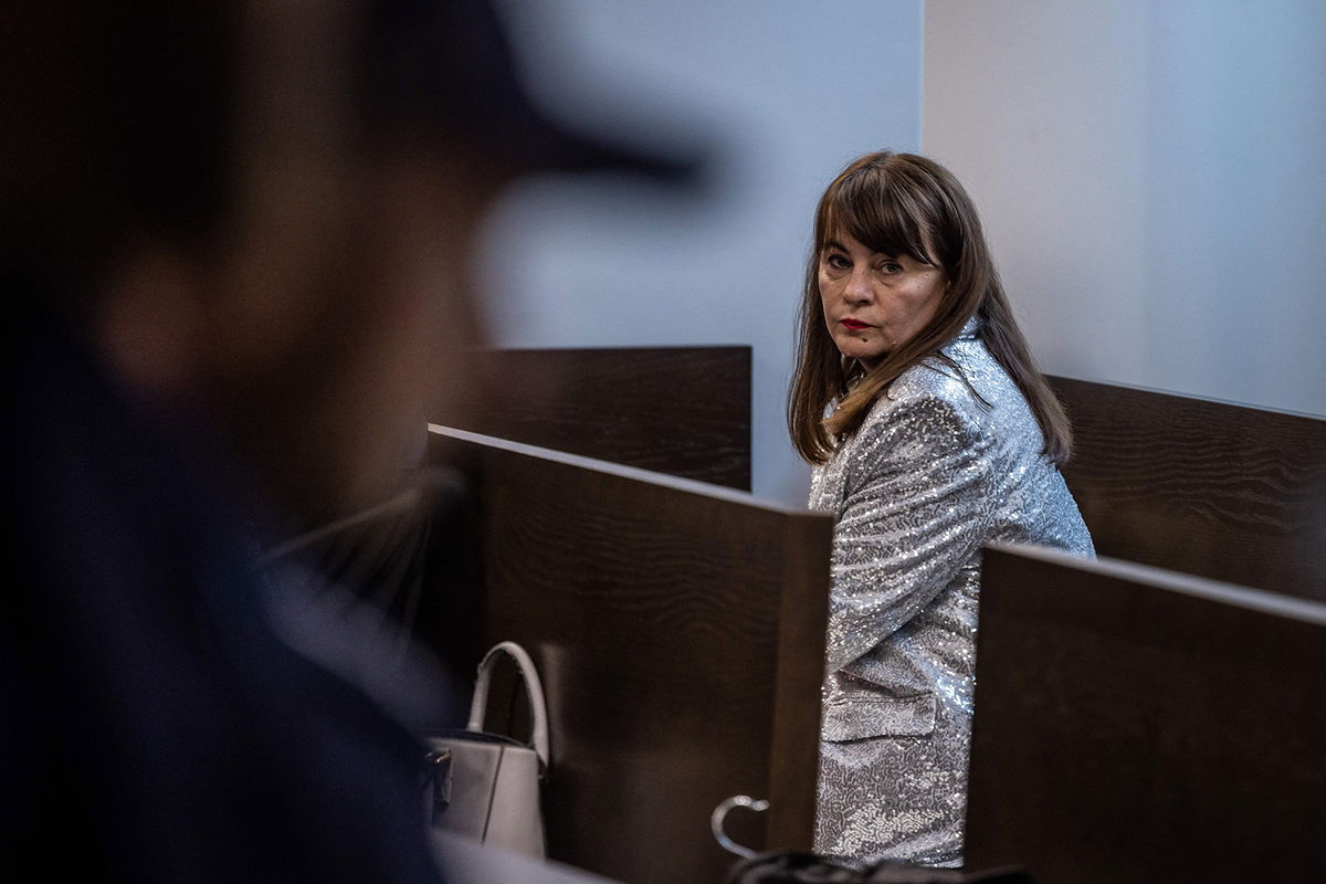
{"type": "Polygon", "coordinates": [[[435,639],[468,641],[471,667],[499,640],[534,657],[550,856],[629,883],[716,883],[736,857],[709,814],[737,794],[772,802],[766,831],[741,840],[809,847],[831,518],[461,431],[432,439],[480,509],[479,591],[438,610],[435,639]]]}

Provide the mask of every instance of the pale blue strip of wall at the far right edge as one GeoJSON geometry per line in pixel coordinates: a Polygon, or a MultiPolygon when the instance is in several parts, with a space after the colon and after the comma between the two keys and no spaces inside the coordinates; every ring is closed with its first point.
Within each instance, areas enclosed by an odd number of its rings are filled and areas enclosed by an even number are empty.
{"type": "Polygon", "coordinates": [[[1326,3],[1147,13],[1148,380],[1326,414],[1326,3]]]}

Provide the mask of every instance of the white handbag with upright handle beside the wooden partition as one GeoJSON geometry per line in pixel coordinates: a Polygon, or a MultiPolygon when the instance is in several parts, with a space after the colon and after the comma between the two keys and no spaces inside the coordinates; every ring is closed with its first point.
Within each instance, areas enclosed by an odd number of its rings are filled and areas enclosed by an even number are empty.
{"type": "Polygon", "coordinates": [[[540,793],[548,771],[548,712],[533,660],[514,641],[484,655],[475,681],[469,722],[427,740],[424,810],[436,828],[542,857],[544,815],[540,793]],[[484,730],[488,685],[500,655],[520,669],[533,722],[532,745],[484,730]]]}

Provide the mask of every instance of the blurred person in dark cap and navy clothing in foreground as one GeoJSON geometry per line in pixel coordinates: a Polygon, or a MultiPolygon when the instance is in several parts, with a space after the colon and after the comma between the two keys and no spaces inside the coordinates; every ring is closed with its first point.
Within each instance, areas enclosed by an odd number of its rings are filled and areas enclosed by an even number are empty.
{"type": "Polygon", "coordinates": [[[468,383],[467,253],[499,188],[635,160],[541,119],[477,3],[4,20],[9,861],[434,880],[415,734],[438,688],[385,679],[257,562],[396,489],[468,383]]]}

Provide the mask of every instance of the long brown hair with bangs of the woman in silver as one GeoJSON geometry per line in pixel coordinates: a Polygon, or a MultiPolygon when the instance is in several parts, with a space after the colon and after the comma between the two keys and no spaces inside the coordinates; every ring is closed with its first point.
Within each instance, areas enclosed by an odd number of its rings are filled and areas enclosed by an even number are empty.
{"type": "Polygon", "coordinates": [[[924,359],[945,362],[960,374],[940,347],[973,315],[980,317],[977,337],[1032,407],[1045,440],[1042,453],[1062,465],[1073,449],[1069,419],[1017,327],[967,191],[947,168],[915,154],[880,151],[854,160],[829,184],[815,209],[797,367],[788,395],[788,429],[797,452],[812,464],[827,461],[894,380],[924,359]],[[838,351],[823,321],[819,257],[830,240],[843,235],[873,252],[937,266],[948,277],[930,325],[871,371],[838,351]],[[825,417],[831,403],[837,406],[825,417]]]}

